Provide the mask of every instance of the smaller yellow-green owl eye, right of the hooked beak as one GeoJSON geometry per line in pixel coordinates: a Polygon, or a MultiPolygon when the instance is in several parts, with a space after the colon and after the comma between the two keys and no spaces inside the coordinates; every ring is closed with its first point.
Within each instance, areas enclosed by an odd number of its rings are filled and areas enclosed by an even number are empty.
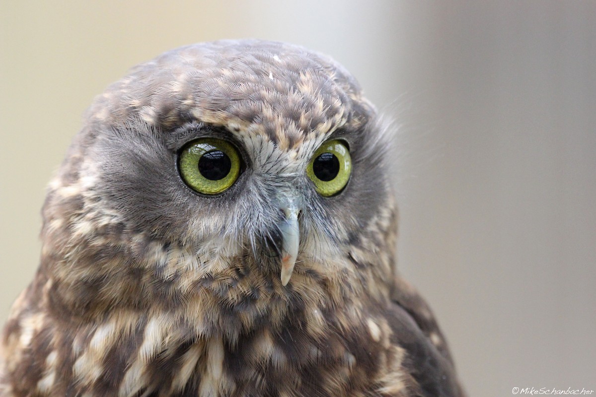
{"type": "Polygon", "coordinates": [[[306,174],[315,183],[321,196],[329,197],[341,192],[352,173],[352,158],[345,143],[330,140],[316,149],[306,174]]]}

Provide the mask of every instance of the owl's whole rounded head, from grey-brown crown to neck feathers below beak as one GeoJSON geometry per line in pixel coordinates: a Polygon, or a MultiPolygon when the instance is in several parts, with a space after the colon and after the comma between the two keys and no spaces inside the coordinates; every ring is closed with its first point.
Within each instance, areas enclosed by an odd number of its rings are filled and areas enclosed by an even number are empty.
{"type": "Polygon", "coordinates": [[[201,43],[136,66],[95,99],[49,187],[54,303],[184,301],[249,272],[355,288],[359,252],[393,252],[382,132],[356,80],[299,46],[201,43]]]}

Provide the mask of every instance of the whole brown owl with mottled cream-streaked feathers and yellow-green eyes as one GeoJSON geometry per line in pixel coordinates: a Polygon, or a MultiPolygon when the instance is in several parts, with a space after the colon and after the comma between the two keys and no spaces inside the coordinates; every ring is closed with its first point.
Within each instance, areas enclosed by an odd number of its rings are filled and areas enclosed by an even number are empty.
{"type": "Polygon", "coordinates": [[[138,65],[86,113],[0,338],[0,396],[462,396],[396,273],[390,130],[330,58],[138,65]]]}

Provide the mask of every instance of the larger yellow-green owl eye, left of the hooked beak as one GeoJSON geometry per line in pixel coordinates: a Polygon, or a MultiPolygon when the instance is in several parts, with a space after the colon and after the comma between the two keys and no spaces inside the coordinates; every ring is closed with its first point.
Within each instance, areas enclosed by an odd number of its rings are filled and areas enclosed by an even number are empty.
{"type": "Polygon", "coordinates": [[[216,195],[234,185],[240,174],[240,155],[222,139],[201,138],[184,146],[178,167],[182,180],[205,195],[216,195]]]}

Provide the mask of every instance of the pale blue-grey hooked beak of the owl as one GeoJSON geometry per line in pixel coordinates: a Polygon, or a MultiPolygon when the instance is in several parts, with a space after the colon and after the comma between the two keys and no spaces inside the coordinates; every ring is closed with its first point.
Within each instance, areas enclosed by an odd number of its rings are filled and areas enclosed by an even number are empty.
{"type": "Polygon", "coordinates": [[[281,285],[285,286],[290,282],[298,247],[300,245],[300,225],[298,214],[300,206],[297,200],[290,199],[282,208],[284,219],[278,224],[281,232],[281,285]]]}

